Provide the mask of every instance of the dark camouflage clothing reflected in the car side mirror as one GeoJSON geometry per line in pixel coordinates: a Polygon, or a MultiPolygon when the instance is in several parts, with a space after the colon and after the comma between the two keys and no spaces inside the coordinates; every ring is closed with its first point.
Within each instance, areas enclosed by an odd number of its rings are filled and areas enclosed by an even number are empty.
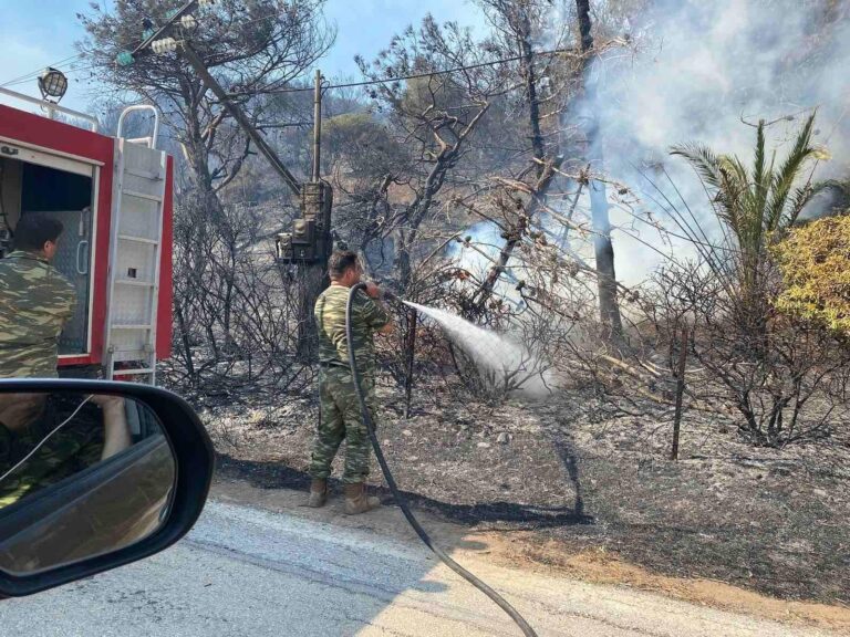
{"type": "MultiPolygon", "coordinates": [[[[70,407],[73,406],[69,406],[70,407]]],[[[23,431],[0,422],[0,476],[55,429],[70,414],[49,400],[44,411],[23,431]]],[[[103,424],[94,410],[81,410],[65,427],[46,439],[31,458],[0,482],[0,509],[97,463],[103,452],[103,424]]]]}

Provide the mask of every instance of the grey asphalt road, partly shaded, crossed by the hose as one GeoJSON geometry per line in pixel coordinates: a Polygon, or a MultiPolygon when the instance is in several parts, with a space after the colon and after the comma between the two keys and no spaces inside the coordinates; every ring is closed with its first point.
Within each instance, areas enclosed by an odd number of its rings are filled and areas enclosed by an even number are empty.
{"type": "MultiPolygon", "coordinates": [[[[483,558],[465,562],[541,636],[830,635],[483,558]]],[[[217,501],[165,553],[0,602],[3,637],[519,634],[498,607],[418,544],[217,501]]]]}

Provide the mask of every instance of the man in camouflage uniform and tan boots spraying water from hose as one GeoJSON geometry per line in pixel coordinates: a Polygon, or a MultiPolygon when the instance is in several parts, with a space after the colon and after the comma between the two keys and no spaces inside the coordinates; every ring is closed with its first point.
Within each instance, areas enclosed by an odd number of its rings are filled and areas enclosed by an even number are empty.
{"type": "Polygon", "coordinates": [[[354,347],[357,369],[361,373],[366,404],[375,414],[375,351],[374,334],[388,333],[393,326],[380,301],[381,290],[369,283],[354,297],[352,306],[352,336],[345,335],[345,306],[351,288],[360,283],[363,270],[357,255],[351,251],[336,251],[329,260],[331,285],[315,303],[315,322],[319,327],[319,398],[321,418],[313,442],[310,476],[310,507],[322,507],[328,499],[328,478],[331,462],[343,438],[345,464],[342,482],[345,489],[345,513],[364,513],[379,505],[377,498],[365,491],[369,474],[370,441],[366,425],[360,410],[354,379],[349,366],[349,346],[354,347]]]}

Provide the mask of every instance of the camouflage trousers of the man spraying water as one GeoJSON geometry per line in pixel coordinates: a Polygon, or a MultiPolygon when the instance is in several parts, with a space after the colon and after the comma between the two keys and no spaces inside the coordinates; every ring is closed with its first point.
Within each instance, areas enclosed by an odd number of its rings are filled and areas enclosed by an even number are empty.
{"type": "MultiPolygon", "coordinates": [[[[362,383],[366,394],[366,405],[372,421],[375,422],[374,375],[363,375],[362,383]]],[[[315,479],[330,477],[331,462],[344,438],[345,466],[342,481],[345,484],[363,482],[369,476],[369,430],[363,422],[354,380],[348,367],[322,368],[319,376],[319,400],[322,415],[313,442],[310,476],[315,479]]]]}

